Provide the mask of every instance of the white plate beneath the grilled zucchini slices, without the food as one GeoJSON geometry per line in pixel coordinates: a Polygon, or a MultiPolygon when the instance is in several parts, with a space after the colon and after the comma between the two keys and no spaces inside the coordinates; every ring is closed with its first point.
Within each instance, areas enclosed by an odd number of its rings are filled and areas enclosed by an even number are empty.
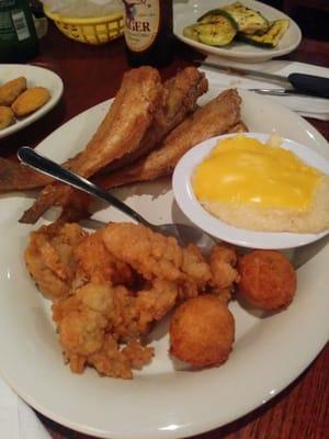
{"type": "Polygon", "coordinates": [[[186,38],[183,35],[184,27],[195,23],[196,20],[205,12],[212,9],[220,8],[224,4],[230,4],[234,0],[175,0],[173,22],[175,36],[202,53],[214,54],[241,63],[261,63],[271,58],[275,58],[293,52],[300,43],[300,30],[290,16],[277,9],[254,0],[241,0],[241,3],[248,8],[260,11],[269,21],[280,19],[290,20],[290,27],[275,48],[256,47],[242,42],[234,42],[227,46],[215,47],[202,44],[191,38],[186,38]]]}

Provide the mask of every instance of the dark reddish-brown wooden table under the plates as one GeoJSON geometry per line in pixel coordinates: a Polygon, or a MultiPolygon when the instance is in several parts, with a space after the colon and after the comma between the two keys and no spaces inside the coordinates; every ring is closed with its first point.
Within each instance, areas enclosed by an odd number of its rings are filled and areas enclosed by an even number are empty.
{"type": "MultiPolygon", "coordinates": [[[[173,75],[178,68],[191,64],[195,55],[192,49],[178,43],[175,59],[172,65],[161,70],[161,76],[167,78],[173,75]]],[[[285,59],[329,66],[329,42],[305,40],[299,48],[285,59]]],[[[5,150],[3,155],[13,155],[21,145],[37,145],[64,122],[113,97],[120,87],[123,72],[129,68],[123,38],[105,46],[91,47],[68,40],[53,25],[42,41],[39,56],[31,63],[60,75],[65,86],[64,97],[60,103],[41,121],[10,138],[2,139],[0,150],[5,150]]],[[[329,122],[316,120],[309,122],[327,139],[329,138],[329,122]]],[[[54,439],[88,438],[41,415],[39,417],[54,439]]],[[[298,379],[272,401],[247,416],[197,438],[329,438],[329,346],[298,379]]]]}

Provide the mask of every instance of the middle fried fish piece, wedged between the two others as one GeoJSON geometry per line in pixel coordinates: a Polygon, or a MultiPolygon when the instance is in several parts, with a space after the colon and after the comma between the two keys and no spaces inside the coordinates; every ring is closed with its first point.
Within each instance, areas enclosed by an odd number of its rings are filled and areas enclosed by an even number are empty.
{"type": "Polygon", "coordinates": [[[208,89],[205,75],[195,67],[186,67],[164,85],[164,104],[155,115],[140,145],[133,153],[111,162],[102,173],[109,173],[136,161],[154,149],[163,137],[196,109],[196,101],[208,89]]]}

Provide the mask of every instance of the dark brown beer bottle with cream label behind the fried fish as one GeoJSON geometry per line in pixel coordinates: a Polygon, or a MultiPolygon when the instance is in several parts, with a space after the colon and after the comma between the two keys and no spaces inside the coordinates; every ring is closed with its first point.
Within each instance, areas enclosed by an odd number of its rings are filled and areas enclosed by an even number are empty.
{"type": "Polygon", "coordinates": [[[163,67],[172,60],[172,0],[123,0],[128,63],[163,67]]]}

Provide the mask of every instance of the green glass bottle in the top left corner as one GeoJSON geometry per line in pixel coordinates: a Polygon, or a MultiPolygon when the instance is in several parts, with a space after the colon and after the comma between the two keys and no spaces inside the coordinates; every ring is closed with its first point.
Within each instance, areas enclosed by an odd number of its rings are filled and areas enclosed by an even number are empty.
{"type": "Polygon", "coordinates": [[[24,0],[0,0],[0,63],[24,63],[38,53],[33,16],[24,0]]]}

